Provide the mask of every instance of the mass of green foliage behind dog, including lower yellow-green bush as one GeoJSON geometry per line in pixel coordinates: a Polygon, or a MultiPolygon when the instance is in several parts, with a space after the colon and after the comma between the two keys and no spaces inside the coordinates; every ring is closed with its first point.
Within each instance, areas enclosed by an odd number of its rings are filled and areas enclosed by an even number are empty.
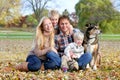
{"type": "Polygon", "coordinates": [[[86,23],[95,23],[104,33],[120,33],[120,12],[110,0],[80,0],[75,9],[79,28],[84,29],[86,23]]]}

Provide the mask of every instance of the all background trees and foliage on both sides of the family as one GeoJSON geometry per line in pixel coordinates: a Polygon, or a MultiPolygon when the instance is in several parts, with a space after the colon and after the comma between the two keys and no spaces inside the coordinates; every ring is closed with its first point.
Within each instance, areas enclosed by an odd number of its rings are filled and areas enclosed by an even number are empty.
{"type": "MultiPolygon", "coordinates": [[[[42,16],[48,15],[48,2],[53,0],[2,0],[0,3],[0,27],[36,27],[42,16]],[[21,15],[22,4],[31,9],[32,14],[21,15]]],[[[116,0],[112,0],[116,1],[116,0]]],[[[111,0],[79,0],[75,6],[76,12],[69,13],[67,9],[62,14],[68,15],[72,25],[82,30],[86,23],[95,23],[103,33],[120,33],[120,12],[113,6],[111,0]]],[[[62,15],[61,14],[61,15],[62,15]]]]}

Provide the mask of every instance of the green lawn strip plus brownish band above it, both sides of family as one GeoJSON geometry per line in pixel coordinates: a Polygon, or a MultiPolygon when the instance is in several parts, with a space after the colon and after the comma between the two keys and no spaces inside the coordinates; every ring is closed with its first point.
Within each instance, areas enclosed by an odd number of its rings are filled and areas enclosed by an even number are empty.
{"type": "MultiPolygon", "coordinates": [[[[35,28],[0,28],[0,39],[33,39],[35,28]]],[[[120,34],[100,34],[100,40],[120,40],[120,34]]]]}

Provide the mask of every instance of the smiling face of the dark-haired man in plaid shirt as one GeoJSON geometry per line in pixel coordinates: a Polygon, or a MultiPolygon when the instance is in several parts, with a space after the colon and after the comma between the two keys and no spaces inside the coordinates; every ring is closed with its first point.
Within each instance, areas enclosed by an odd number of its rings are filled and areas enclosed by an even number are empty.
{"type": "Polygon", "coordinates": [[[67,19],[60,20],[59,27],[63,33],[69,32],[70,22],[67,19]]]}

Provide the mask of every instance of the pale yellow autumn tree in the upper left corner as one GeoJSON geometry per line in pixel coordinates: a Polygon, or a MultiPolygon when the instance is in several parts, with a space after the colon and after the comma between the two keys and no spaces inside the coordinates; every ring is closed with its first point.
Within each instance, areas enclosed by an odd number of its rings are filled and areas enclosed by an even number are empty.
{"type": "Polygon", "coordinates": [[[0,11],[0,24],[14,22],[20,16],[20,0],[2,0],[0,11]]]}

